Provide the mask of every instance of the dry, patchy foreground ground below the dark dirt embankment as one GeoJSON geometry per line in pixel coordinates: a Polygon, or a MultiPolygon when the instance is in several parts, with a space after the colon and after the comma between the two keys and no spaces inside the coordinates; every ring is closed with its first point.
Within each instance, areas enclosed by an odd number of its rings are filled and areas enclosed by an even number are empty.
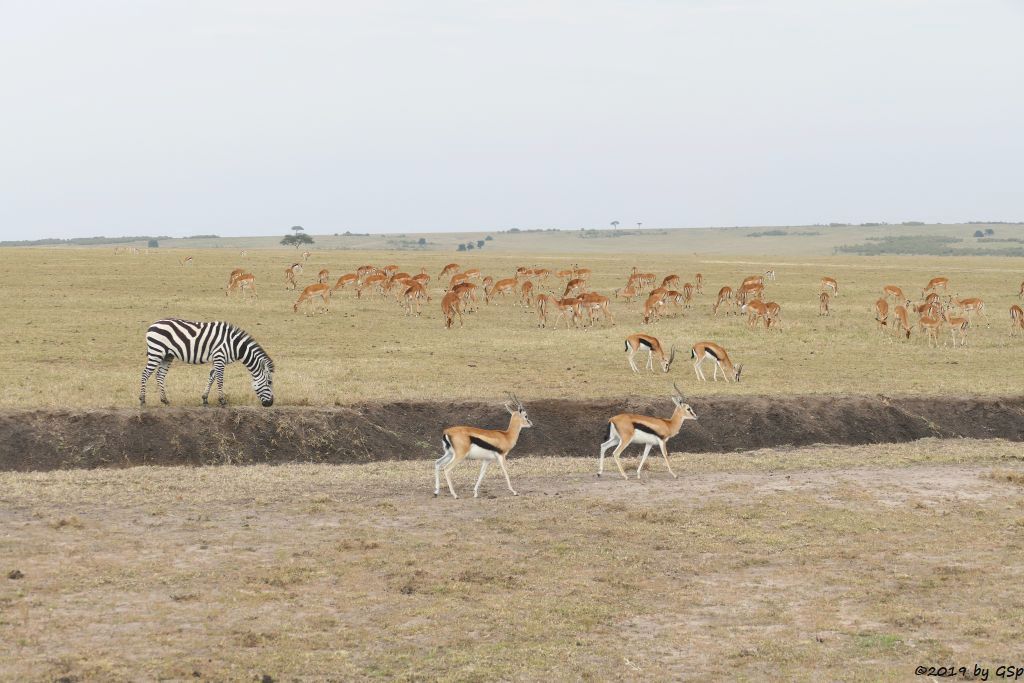
{"type": "Polygon", "coordinates": [[[908,680],[1024,661],[1001,440],[0,474],[3,680],[908,680]],[[628,471],[635,468],[630,460],[628,471]],[[13,577],[13,578],[8,578],[13,577]]]}

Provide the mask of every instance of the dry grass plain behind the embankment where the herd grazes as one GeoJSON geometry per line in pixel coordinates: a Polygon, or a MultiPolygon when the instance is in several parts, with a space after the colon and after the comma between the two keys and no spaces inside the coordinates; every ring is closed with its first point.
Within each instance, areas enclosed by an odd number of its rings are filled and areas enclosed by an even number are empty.
{"type": "MultiPolygon", "coordinates": [[[[920,228],[919,228],[920,229],[920,228]]],[[[543,240],[538,238],[538,244],[543,240]]],[[[605,250],[615,240],[602,242],[605,250]]],[[[757,243],[757,241],[751,241],[757,243]]],[[[756,245],[755,245],[756,246],[756,245]]],[[[677,246],[680,251],[685,245],[677,246]]],[[[687,392],[722,393],[988,393],[1020,390],[1024,338],[1009,336],[1009,306],[1018,301],[1021,259],[947,257],[828,257],[636,255],[602,253],[574,259],[534,253],[314,251],[300,278],[313,281],[321,267],[332,278],[362,263],[420,267],[436,276],[449,261],[508,276],[517,265],[593,269],[593,289],[611,294],[632,266],[685,281],[701,271],[706,294],[692,309],[650,327],[640,325],[640,304],[616,303],[614,327],[593,330],[537,328],[534,311],[511,301],[481,306],[464,329],[442,326],[439,284],[422,316],[407,316],[391,301],[335,295],[330,313],[292,312],[296,293],[284,288],[284,268],[295,250],[253,250],[246,258],[229,249],[115,256],[113,249],[2,249],[0,260],[0,407],[113,408],[136,403],[144,365],[146,327],[160,317],[226,319],[248,330],[274,358],[279,404],[352,403],[409,398],[498,397],[505,390],[530,397],[658,395],[678,381],[687,392]],[[194,264],[179,265],[190,255],[194,264]],[[227,273],[245,267],[257,276],[258,303],[224,296],[227,273]],[[749,330],[738,316],[715,318],[711,304],[723,285],[736,287],[750,273],[774,267],[768,298],[782,305],[780,331],[749,330]],[[818,316],[818,281],[837,278],[840,296],[831,317],[818,316]],[[883,285],[920,294],[934,275],[951,279],[961,296],[982,297],[991,327],[972,329],[968,348],[930,348],[916,333],[909,342],[880,336],[872,304],[883,285]],[[676,343],[681,356],[671,378],[629,372],[623,339],[644,331],[676,343]],[[714,340],[745,364],[743,382],[700,385],[685,357],[689,345],[714,340]]],[[[552,283],[551,288],[557,284],[552,283]]],[[[943,337],[948,342],[948,335],[943,337]]],[[[169,394],[194,405],[205,386],[204,369],[177,366],[169,394]]],[[[155,389],[155,387],[154,387],[155,389]]],[[[227,372],[228,399],[257,404],[241,367],[227,372]]],[[[154,408],[153,410],[159,410],[154,408]]]]}

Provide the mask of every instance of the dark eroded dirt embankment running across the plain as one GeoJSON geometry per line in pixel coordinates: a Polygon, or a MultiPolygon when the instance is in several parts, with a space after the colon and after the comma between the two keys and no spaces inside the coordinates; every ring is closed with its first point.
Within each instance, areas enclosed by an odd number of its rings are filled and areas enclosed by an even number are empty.
{"type": "MultiPolygon", "coordinates": [[[[928,436],[1024,440],[1024,397],[712,396],[694,398],[674,451],[728,452],[928,436]]],[[[516,456],[596,456],[607,418],[668,416],[667,400],[537,400],[516,456]]],[[[496,403],[344,408],[163,408],[0,414],[0,471],[133,465],[359,463],[436,458],[440,430],[503,428],[496,403]]]]}

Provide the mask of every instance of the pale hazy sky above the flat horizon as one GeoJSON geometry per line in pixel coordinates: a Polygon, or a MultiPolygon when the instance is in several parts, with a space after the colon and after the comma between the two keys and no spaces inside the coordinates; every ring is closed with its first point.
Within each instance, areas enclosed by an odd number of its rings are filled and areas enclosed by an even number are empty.
{"type": "Polygon", "coordinates": [[[0,239],[1024,220],[1020,0],[0,0],[0,239]]]}

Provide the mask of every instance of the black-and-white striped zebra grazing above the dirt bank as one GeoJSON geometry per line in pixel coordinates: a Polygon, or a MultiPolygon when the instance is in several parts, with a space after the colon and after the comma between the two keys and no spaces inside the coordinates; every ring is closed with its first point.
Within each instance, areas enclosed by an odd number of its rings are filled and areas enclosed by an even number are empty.
{"type": "Polygon", "coordinates": [[[241,360],[253,378],[253,390],[265,408],[273,405],[273,361],[266,351],[244,330],[230,323],[194,323],[168,318],[157,321],[145,331],[147,360],[142,371],[142,390],[138,402],[145,405],[145,382],[157,371],[160,385],[160,400],[170,403],[164,391],[164,378],[174,358],[193,365],[213,362],[210,381],[203,392],[203,404],[209,405],[207,397],[213,380],[217,380],[220,404],[226,405],[224,398],[224,366],[241,360]]]}

